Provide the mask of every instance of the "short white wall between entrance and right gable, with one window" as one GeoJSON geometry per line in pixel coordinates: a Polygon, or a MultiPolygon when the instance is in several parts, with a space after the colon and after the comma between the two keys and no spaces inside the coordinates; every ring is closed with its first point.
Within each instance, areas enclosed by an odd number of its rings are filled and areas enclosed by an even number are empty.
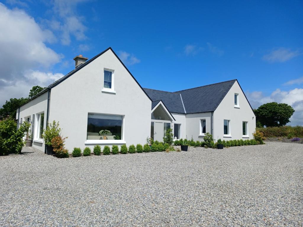
{"type": "Polygon", "coordinates": [[[186,136],[188,140],[191,137],[197,141],[204,141],[204,136],[200,136],[200,119],[205,119],[206,132],[211,133],[211,112],[188,113],[186,114],[186,136]]]}

